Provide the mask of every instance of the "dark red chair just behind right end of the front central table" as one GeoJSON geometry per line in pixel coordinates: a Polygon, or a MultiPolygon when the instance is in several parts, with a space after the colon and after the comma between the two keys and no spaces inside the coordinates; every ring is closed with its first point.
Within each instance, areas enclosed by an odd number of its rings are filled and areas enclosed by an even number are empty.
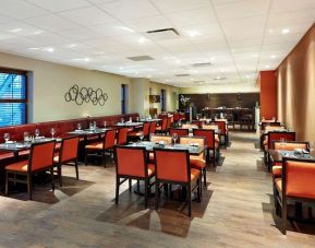
{"type": "Polygon", "coordinates": [[[210,151],[213,152],[213,163],[216,166],[216,160],[219,158],[220,155],[220,141],[216,140],[215,130],[209,129],[194,129],[194,137],[204,137],[205,144],[207,145],[207,156],[206,161],[209,162],[210,151]]]}

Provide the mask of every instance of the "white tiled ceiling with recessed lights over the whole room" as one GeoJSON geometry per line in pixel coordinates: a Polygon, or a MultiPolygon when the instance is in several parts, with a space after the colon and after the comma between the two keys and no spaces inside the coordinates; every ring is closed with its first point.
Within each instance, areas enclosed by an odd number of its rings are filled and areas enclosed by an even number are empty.
{"type": "Polygon", "coordinates": [[[315,0],[1,0],[0,50],[178,86],[255,83],[314,21],[315,0]],[[145,34],[169,27],[180,36],[145,34]]]}

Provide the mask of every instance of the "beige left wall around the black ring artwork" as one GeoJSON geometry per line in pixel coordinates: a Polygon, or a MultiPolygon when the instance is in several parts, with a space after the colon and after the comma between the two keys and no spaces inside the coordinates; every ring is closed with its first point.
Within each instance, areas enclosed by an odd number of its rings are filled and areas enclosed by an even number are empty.
{"type": "Polygon", "coordinates": [[[152,83],[147,79],[129,79],[121,75],[80,69],[69,66],[0,52],[0,67],[29,71],[28,121],[48,121],[121,113],[121,84],[129,85],[129,113],[148,115],[149,87],[167,90],[167,110],[174,110],[172,86],[152,83]],[[73,85],[101,88],[108,94],[104,106],[92,103],[81,106],[65,102],[64,94],[73,85]]]}

